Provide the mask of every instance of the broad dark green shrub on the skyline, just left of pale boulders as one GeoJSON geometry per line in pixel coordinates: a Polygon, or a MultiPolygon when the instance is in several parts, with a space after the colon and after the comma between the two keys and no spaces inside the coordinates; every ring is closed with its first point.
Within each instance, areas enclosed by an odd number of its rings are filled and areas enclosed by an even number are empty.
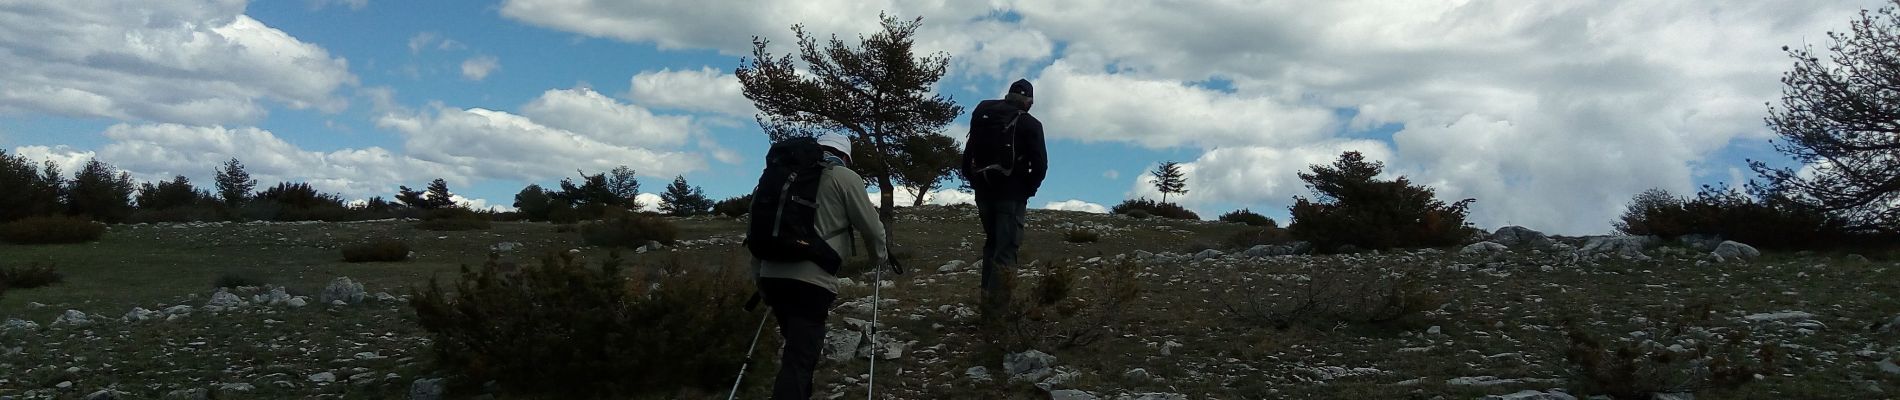
{"type": "Polygon", "coordinates": [[[1431,188],[1404,176],[1378,180],[1385,163],[1345,152],[1332,167],[1300,173],[1317,199],[1294,197],[1286,229],[1320,252],[1343,246],[1368,250],[1395,246],[1452,246],[1472,235],[1465,222],[1472,199],[1446,205],[1431,188]]]}

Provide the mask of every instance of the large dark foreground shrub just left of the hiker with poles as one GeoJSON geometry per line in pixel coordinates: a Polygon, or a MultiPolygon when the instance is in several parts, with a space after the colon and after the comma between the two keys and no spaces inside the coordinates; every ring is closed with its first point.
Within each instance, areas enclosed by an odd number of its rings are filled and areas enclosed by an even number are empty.
{"type": "MultiPolygon", "coordinates": [[[[557,252],[507,273],[490,258],[481,269],[464,265],[448,288],[431,279],[410,307],[437,362],[505,391],[642,398],[726,389],[762,313],[741,309],[752,294],[747,273],[690,269],[678,258],[659,269],[629,279],[618,254],[595,269],[557,252]]],[[[752,372],[775,370],[775,341],[760,337],[752,372]]]]}

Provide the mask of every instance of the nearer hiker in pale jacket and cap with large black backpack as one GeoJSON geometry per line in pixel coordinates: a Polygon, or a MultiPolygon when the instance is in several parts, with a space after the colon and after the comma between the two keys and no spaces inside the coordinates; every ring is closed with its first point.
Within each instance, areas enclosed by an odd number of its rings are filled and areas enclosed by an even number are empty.
{"type": "Polygon", "coordinates": [[[849,165],[851,140],[842,135],[787,138],[768,150],[752,190],[745,246],[785,339],[771,398],[811,398],[838,267],[857,254],[857,237],[868,241],[874,265],[889,260],[878,209],[849,165]]]}

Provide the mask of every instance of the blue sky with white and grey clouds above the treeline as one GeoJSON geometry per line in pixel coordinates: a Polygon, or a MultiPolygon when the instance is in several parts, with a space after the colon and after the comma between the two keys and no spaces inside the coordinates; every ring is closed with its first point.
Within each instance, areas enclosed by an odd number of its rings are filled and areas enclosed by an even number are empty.
{"type": "Polygon", "coordinates": [[[750,38],[855,38],[887,11],[923,17],[965,106],[1036,82],[1053,167],[1032,207],[1159,197],[1146,171],[1172,159],[1170,199],[1284,220],[1298,171],[1358,150],[1476,197],[1480,227],[1606,233],[1645,188],[1788,163],[1761,123],[1780,47],[1881,4],[0,0],[0,148],[141,180],[238,157],[352,199],[446,178],[507,207],[614,165],[730,197],[766,148],[732,78],[750,38]]]}

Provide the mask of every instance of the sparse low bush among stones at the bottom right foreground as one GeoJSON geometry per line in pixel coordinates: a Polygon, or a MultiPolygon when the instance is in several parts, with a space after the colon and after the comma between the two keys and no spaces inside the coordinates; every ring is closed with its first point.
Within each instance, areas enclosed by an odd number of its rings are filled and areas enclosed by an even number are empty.
{"type": "Polygon", "coordinates": [[[1714,313],[1691,305],[1630,336],[1624,330],[1592,332],[1564,318],[1569,345],[1564,358],[1579,391],[1613,398],[1651,398],[1668,392],[1733,389],[1756,375],[1776,375],[1778,345],[1752,339],[1748,326],[1704,328],[1714,313]],[[1640,337],[1640,339],[1638,339],[1640,337]],[[1670,347],[1676,349],[1670,349],[1670,347]]]}

